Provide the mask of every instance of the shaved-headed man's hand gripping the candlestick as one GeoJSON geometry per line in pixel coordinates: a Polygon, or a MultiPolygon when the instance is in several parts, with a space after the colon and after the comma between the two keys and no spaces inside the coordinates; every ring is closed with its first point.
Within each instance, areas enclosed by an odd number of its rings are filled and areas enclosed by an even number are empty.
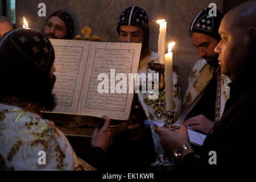
{"type": "Polygon", "coordinates": [[[175,131],[163,127],[157,127],[155,131],[159,134],[162,147],[167,153],[171,153],[183,144],[189,143],[187,127],[184,125],[181,125],[180,129],[175,131]]]}

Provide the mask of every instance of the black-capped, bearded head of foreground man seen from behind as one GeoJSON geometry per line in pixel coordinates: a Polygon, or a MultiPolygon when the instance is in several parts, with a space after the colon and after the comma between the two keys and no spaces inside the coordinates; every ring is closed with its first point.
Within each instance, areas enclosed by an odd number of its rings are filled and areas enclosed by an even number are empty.
{"type": "Polygon", "coordinates": [[[0,41],[0,97],[18,97],[52,110],[55,76],[49,72],[54,59],[52,44],[42,32],[7,32],[0,41]]]}

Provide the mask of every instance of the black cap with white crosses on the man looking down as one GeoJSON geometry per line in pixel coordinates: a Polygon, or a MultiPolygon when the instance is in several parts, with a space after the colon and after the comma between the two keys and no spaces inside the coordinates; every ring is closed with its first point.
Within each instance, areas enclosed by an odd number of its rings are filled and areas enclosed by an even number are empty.
{"type": "Polygon", "coordinates": [[[209,16],[209,11],[210,8],[205,8],[196,15],[189,28],[189,33],[198,32],[200,34],[206,34],[220,40],[221,38],[220,35],[218,35],[218,28],[220,27],[223,15],[220,13],[220,11],[216,10],[217,16],[209,16]]]}

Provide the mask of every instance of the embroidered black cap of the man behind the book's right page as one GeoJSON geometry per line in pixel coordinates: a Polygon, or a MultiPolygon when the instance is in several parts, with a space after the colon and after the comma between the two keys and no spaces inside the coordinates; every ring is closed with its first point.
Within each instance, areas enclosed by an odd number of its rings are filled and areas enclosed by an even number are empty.
{"type": "Polygon", "coordinates": [[[120,27],[122,25],[138,26],[144,30],[144,41],[142,48],[148,48],[149,26],[148,16],[146,11],[138,6],[128,7],[121,13],[118,19],[117,32],[120,34],[120,27]]]}

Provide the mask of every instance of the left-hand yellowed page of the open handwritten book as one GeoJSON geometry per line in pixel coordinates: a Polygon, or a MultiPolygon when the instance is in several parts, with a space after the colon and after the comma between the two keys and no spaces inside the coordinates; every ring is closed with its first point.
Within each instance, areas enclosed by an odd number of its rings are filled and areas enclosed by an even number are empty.
{"type": "Polygon", "coordinates": [[[56,68],[53,94],[57,105],[53,112],[76,114],[90,42],[60,39],[50,41],[55,51],[53,64],[56,68]]]}

